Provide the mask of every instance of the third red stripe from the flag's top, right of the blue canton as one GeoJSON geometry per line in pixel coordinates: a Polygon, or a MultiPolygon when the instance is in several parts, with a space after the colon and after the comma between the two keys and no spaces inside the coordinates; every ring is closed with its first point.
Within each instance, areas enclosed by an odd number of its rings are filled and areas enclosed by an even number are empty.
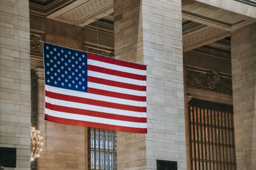
{"type": "Polygon", "coordinates": [[[87,81],[95,82],[95,83],[99,83],[99,84],[103,84],[103,85],[115,86],[115,87],[119,87],[119,88],[128,88],[128,89],[137,90],[137,91],[146,91],[146,86],[143,86],[143,85],[133,85],[133,84],[125,83],[125,82],[116,82],[116,81],[102,79],[102,78],[98,78],[98,77],[88,76],[87,81]]]}

